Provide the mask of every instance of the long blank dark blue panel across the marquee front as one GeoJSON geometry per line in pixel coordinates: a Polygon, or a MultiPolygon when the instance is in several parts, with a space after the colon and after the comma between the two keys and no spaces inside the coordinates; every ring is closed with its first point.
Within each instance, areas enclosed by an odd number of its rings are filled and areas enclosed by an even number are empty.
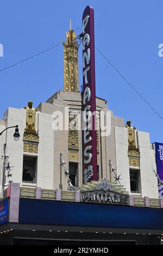
{"type": "Polygon", "coordinates": [[[19,223],[163,229],[163,209],[20,198],[19,223]]]}

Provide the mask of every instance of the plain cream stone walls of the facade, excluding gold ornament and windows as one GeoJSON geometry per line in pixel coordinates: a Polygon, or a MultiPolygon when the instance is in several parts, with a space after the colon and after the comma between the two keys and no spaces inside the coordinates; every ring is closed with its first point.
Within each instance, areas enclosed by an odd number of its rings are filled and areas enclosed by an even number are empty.
{"type": "MultiPolygon", "coordinates": [[[[82,95],[75,92],[59,91],[50,97],[47,102],[41,102],[36,112],[36,130],[39,132],[38,153],[23,152],[23,132],[26,128],[26,109],[8,108],[4,114],[4,118],[0,120],[0,131],[5,127],[18,125],[20,132],[20,140],[15,142],[13,139],[14,129],[9,129],[0,136],[0,188],[4,189],[4,183],[8,182],[8,178],[4,174],[3,161],[4,143],[7,147],[9,161],[12,166],[12,180],[18,182],[21,186],[42,187],[49,190],[59,188],[62,185],[63,190],[67,190],[67,179],[64,170],[60,168],[60,153],[68,168],[68,162],[78,163],[78,186],[83,184],[82,169],[82,131],[79,131],[78,152],[74,160],[68,150],[68,130],[54,131],[53,112],[60,111],[65,117],[65,107],[69,107],[71,111],[78,111],[81,116],[82,112],[82,95]],[[23,156],[37,157],[36,161],[36,179],[35,183],[22,182],[23,156]]],[[[121,174],[121,184],[130,193],[130,168],[139,169],[140,172],[140,193],[138,196],[148,196],[158,198],[157,179],[153,173],[155,166],[155,154],[149,141],[149,133],[135,131],[137,138],[137,146],[140,149],[140,168],[130,167],[128,159],[128,133],[124,127],[123,118],[115,117],[108,109],[106,101],[96,98],[96,111],[99,116],[103,110],[111,115],[111,133],[109,136],[99,136],[99,179],[107,178],[114,182],[114,174],[110,172],[109,161],[117,171],[121,174]]],[[[80,123],[80,122],[79,122],[80,123]]]]}

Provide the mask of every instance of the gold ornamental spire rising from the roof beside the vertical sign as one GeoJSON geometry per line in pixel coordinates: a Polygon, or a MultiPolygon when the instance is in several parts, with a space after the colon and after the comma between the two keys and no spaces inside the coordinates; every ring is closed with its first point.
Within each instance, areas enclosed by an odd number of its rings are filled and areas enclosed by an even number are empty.
{"type": "Polygon", "coordinates": [[[64,90],[67,92],[78,92],[78,48],[76,33],[72,29],[70,20],[70,30],[66,32],[66,42],[64,45],[64,90]]]}

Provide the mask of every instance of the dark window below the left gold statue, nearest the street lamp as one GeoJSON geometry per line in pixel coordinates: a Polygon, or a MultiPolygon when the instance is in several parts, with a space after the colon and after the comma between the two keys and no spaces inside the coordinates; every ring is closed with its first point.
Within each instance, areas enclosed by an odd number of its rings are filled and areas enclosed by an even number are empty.
{"type": "Polygon", "coordinates": [[[35,183],[37,157],[23,157],[23,182],[35,183]]]}

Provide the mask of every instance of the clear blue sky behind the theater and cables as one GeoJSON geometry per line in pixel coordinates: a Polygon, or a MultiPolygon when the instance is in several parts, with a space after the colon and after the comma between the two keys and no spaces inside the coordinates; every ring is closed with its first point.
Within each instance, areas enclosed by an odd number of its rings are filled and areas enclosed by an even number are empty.
{"type": "MultiPolygon", "coordinates": [[[[122,72],[146,100],[162,113],[163,43],[161,0],[2,0],[0,44],[4,56],[0,69],[33,56],[65,40],[72,28],[82,32],[86,5],[95,10],[95,45],[122,72]]],[[[151,142],[163,142],[163,121],[122,80],[96,51],[96,95],[108,101],[114,115],[128,119],[151,142]]],[[[0,117],[8,107],[34,106],[63,89],[63,47],[0,72],[0,117]]],[[[82,51],[79,50],[79,81],[82,84],[82,51]]],[[[13,124],[15,125],[15,124],[13,124]]]]}

